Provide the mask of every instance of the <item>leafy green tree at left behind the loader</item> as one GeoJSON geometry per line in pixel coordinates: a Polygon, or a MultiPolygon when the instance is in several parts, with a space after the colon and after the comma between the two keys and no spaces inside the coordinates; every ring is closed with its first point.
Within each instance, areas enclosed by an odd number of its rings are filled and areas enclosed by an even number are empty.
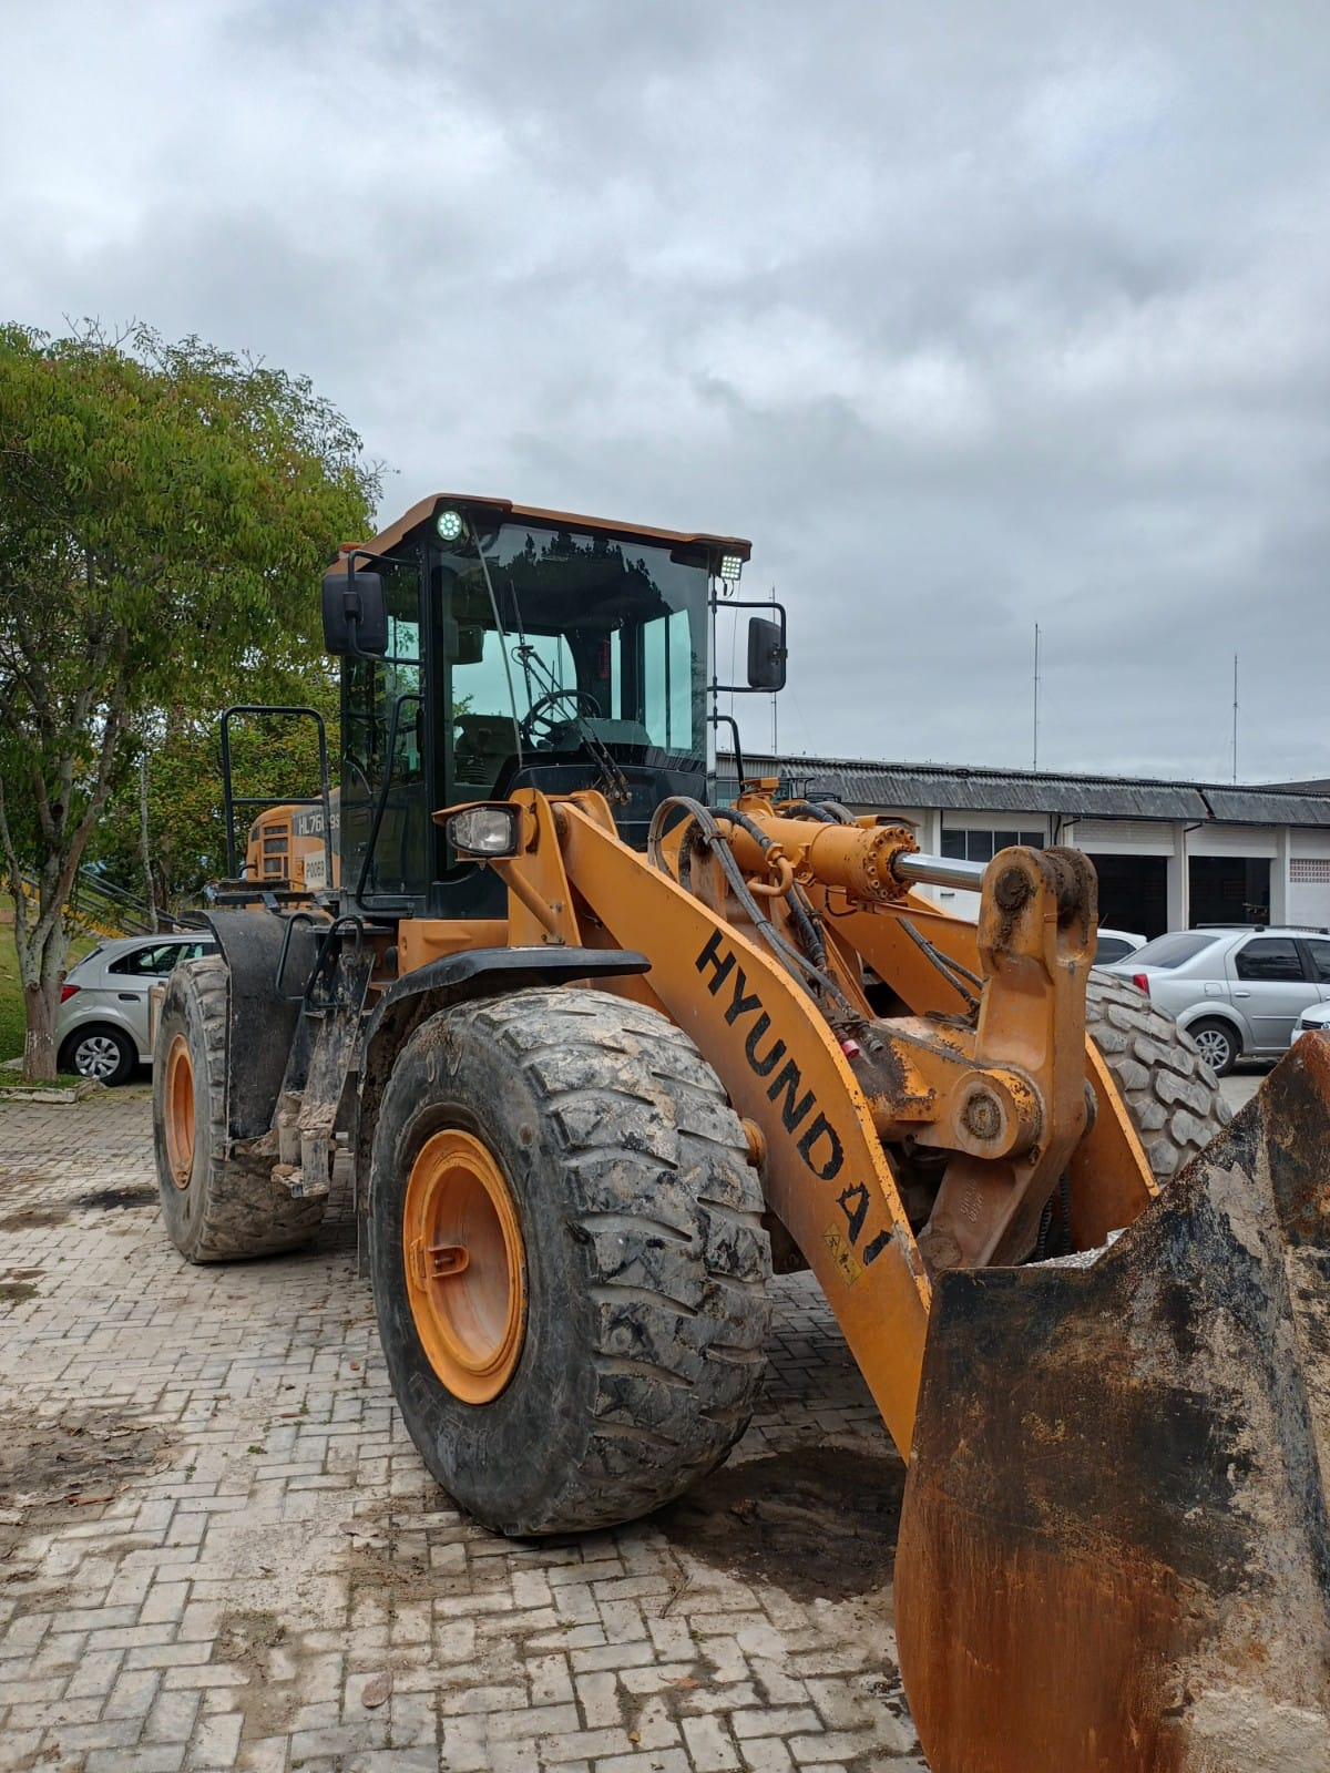
{"type": "Polygon", "coordinates": [[[0,858],[25,1076],[55,1076],[64,904],[153,709],[312,656],[376,472],[310,383],[145,326],[0,326],[0,858]],[[32,897],[25,879],[34,881],[32,897]]]}

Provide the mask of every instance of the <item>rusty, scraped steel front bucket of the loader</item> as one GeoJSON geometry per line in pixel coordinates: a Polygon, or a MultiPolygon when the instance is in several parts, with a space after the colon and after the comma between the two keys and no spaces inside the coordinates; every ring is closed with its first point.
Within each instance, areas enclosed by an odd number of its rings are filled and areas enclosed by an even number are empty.
{"type": "Polygon", "coordinates": [[[896,1562],[933,1773],[1330,1773],[1328,1493],[1305,1035],[1091,1266],[940,1278],[896,1562]]]}

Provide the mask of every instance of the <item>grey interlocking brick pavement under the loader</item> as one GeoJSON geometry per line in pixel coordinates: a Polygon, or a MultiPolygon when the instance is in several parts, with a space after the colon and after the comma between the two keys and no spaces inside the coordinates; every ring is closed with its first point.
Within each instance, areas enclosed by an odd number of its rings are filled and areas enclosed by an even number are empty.
{"type": "Polygon", "coordinates": [[[309,1252],[188,1268],[149,1113],[0,1105],[4,1773],[922,1769],[899,1464],[805,1277],[697,1498],[497,1539],[401,1427],[344,1202],[309,1252]]]}

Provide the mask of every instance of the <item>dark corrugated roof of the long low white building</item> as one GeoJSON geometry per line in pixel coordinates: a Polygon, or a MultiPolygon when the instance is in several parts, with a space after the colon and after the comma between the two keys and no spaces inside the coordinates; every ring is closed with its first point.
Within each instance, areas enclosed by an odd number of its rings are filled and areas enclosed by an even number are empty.
{"type": "MultiPolygon", "coordinates": [[[[1050,775],[1034,769],[968,769],[961,764],[874,762],[857,757],[771,757],[745,752],[748,775],[798,782],[862,807],[940,807],[943,812],[1046,812],[1062,819],[1181,819],[1222,824],[1330,826],[1330,794],[1149,777],[1050,775]]],[[[718,757],[722,780],[734,759],[718,757]]]]}

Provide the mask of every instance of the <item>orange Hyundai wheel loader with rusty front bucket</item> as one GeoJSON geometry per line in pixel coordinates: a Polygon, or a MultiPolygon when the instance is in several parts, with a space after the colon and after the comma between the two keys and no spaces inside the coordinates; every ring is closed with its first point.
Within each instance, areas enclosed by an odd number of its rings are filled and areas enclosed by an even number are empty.
{"type": "Polygon", "coordinates": [[[807,1266],[908,1463],[935,1773],[1325,1773],[1330,1043],[1227,1124],[1091,972],[1078,851],[922,855],[741,757],[727,803],[720,699],[786,668],[748,553],[454,495],[339,553],[333,885],[223,894],[170,980],[168,1232],[291,1248],[346,1151],[406,1427],[520,1535],[706,1479],[807,1266]]]}

